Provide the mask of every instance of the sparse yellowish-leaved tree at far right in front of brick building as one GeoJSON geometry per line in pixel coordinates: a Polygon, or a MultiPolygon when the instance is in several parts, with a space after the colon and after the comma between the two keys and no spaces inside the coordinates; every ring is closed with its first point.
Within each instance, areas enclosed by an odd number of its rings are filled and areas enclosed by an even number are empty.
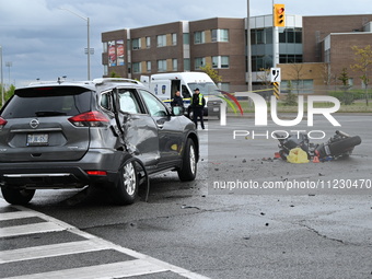
{"type": "Polygon", "coordinates": [[[354,65],[351,65],[351,69],[354,71],[361,72],[362,75],[360,75],[360,79],[362,80],[364,84],[365,90],[365,105],[369,103],[369,96],[368,96],[368,85],[370,83],[370,71],[372,68],[372,47],[371,45],[368,45],[364,48],[359,48],[358,46],[352,46],[352,50],[354,50],[354,65]]]}

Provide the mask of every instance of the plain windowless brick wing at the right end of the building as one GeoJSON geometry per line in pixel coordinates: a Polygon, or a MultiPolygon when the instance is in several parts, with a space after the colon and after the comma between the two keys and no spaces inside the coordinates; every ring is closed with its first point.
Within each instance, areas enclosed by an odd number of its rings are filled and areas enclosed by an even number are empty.
{"type": "Polygon", "coordinates": [[[368,45],[372,45],[372,14],[303,16],[303,62],[329,65],[332,79],[346,68],[350,85],[362,86],[361,73],[350,68],[356,63],[351,47],[368,45]]]}

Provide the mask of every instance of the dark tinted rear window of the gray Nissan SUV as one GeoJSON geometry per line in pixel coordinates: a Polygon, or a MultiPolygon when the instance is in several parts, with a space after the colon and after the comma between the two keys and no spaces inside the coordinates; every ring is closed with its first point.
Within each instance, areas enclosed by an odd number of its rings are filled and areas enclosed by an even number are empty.
{"type": "Polygon", "coordinates": [[[91,111],[91,91],[78,86],[16,90],[1,116],[5,119],[74,116],[91,111]]]}

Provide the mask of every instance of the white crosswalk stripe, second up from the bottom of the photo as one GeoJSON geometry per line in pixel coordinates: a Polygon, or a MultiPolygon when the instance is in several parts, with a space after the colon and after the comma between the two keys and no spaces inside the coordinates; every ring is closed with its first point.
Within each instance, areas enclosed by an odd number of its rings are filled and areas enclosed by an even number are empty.
{"type": "Polygon", "coordinates": [[[95,243],[93,241],[77,241],[20,249],[0,251],[0,264],[96,252],[106,248],[106,245],[100,245],[100,243],[95,243]]]}

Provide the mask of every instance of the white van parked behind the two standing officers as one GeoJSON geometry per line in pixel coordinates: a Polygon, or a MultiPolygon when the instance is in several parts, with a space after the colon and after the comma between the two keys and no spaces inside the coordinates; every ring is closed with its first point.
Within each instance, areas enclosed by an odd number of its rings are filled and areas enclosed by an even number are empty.
{"type": "Polygon", "coordinates": [[[156,73],[151,77],[141,75],[141,82],[164,103],[170,104],[176,91],[184,98],[185,114],[193,114],[189,105],[195,89],[199,89],[206,98],[205,115],[220,116],[221,93],[212,79],[205,72],[156,73]]]}

